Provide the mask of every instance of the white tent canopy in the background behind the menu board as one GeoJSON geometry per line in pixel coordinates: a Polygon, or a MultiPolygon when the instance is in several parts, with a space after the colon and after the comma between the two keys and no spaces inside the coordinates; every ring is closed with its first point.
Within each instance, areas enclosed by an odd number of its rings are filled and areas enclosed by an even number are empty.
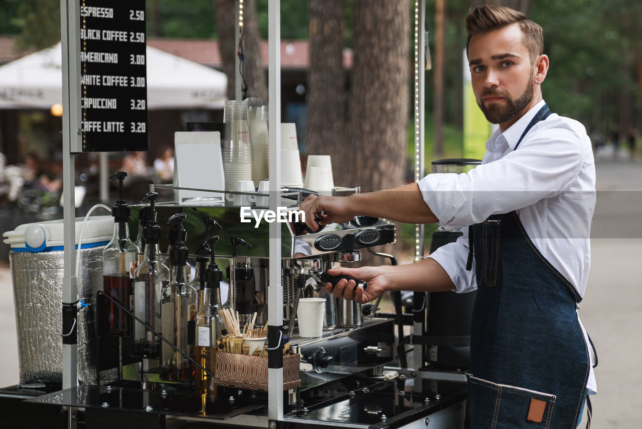
{"type": "MultiPolygon", "coordinates": [[[[0,109],[49,109],[62,103],[60,43],[0,67],[0,109]]],[[[227,77],[147,47],[148,109],[220,109],[227,77]]]]}

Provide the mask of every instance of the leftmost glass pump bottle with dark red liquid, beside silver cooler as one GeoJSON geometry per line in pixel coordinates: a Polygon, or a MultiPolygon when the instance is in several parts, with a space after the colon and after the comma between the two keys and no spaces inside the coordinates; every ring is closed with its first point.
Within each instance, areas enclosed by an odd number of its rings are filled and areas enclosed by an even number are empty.
{"type": "MultiPolygon", "coordinates": [[[[126,172],[117,172],[110,177],[110,180],[119,181],[119,198],[112,207],[114,236],[103,250],[103,291],[129,311],[138,248],[129,238],[130,207],[123,199],[123,179],[126,176],[126,172]]],[[[107,299],[105,299],[103,323],[105,333],[108,335],[128,336],[130,334],[129,315],[107,299]]]]}

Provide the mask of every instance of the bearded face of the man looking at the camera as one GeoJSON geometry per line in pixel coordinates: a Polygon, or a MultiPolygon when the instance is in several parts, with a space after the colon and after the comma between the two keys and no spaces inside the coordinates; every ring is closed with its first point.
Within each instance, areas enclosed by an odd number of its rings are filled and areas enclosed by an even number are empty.
{"type": "Polygon", "coordinates": [[[519,24],[474,35],[468,58],[473,92],[486,119],[512,125],[534,95],[534,67],[519,24]]]}

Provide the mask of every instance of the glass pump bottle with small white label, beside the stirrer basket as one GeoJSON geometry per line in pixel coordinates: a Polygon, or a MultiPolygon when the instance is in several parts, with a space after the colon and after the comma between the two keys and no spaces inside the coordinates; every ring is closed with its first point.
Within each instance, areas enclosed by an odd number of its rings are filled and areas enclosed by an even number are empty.
{"type": "MultiPolygon", "coordinates": [[[[216,367],[216,339],[223,335],[223,318],[220,314],[221,289],[220,282],[223,272],[214,261],[214,245],[218,236],[207,240],[211,249],[211,260],[205,271],[204,305],[196,314],[196,362],[210,373],[214,374],[216,367]]],[[[213,378],[202,369],[196,367],[195,384],[197,394],[216,394],[213,378]]]]}

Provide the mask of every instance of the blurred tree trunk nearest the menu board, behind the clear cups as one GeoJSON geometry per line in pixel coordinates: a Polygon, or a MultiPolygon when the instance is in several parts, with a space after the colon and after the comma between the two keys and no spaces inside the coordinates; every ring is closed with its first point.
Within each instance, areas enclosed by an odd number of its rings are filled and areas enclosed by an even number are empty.
{"type": "MultiPolygon", "coordinates": [[[[218,49],[221,51],[223,60],[223,72],[227,75],[227,98],[234,100],[234,62],[239,61],[238,46],[234,43],[235,32],[238,31],[238,22],[234,19],[234,7],[236,2],[232,0],[214,0],[214,11],[216,12],[216,24],[218,26],[218,49]]],[[[245,90],[243,98],[259,97],[268,101],[268,86],[266,83],[263,59],[261,58],[261,35],[256,20],[256,0],[243,1],[243,76],[245,90]]]]}

